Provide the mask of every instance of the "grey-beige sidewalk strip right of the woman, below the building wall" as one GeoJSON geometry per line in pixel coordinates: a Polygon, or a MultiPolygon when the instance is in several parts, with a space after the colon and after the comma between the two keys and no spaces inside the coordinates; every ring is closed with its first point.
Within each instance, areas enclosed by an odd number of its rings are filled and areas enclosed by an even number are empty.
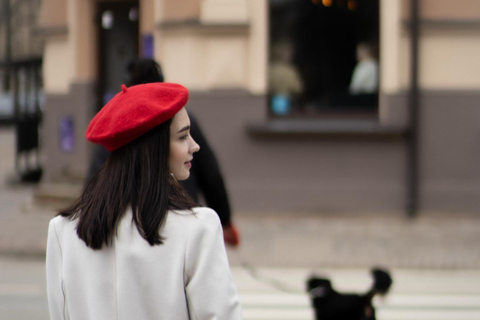
{"type": "Polygon", "coordinates": [[[480,268],[478,217],[259,214],[237,220],[244,241],[230,252],[233,265],[480,268]]]}

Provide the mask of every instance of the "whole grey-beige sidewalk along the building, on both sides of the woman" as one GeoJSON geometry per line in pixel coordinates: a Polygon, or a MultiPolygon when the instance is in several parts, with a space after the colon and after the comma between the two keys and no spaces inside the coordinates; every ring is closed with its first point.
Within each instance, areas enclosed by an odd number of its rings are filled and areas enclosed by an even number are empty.
{"type": "MultiPolygon", "coordinates": [[[[43,257],[52,207],[35,205],[37,186],[12,184],[13,129],[0,128],[0,254],[43,257]]],[[[234,212],[241,245],[232,266],[480,268],[480,213],[268,214],[234,212]]]]}

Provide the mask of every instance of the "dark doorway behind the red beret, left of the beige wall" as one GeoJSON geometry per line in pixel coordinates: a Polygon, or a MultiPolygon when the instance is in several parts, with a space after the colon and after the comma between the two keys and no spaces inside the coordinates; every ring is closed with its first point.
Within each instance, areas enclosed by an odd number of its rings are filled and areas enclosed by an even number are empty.
{"type": "Polygon", "coordinates": [[[126,81],[127,63],[138,56],[138,1],[98,4],[99,97],[98,109],[105,105],[126,81]]]}

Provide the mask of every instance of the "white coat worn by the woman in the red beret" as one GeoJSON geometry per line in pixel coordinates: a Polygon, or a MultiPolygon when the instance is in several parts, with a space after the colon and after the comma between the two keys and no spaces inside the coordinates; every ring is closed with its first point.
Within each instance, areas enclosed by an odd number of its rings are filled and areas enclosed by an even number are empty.
{"type": "Polygon", "coordinates": [[[241,319],[222,228],[208,208],[170,211],[150,246],[129,210],[111,246],[92,250],[77,221],[50,221],[47,291],[52,320],[241,319]]]}

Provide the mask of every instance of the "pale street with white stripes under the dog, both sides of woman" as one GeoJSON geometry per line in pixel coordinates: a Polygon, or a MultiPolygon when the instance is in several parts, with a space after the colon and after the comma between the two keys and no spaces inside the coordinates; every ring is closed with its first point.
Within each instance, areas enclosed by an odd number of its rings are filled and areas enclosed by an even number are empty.
{"type": "MultiPolygon", "coordinates": [[[[305,279],[327,276],[340,292],[361,293],[371,282],[367,269],[234,266],[232,273],[245,320],[313,320],[305,279]]],[[[480,270],[392,270],[394,284],[377,298],[377,319],[480,319],[480,270]]],[[[0,256],[0,319],[47,320],[43,259],[0,256]]]]}

